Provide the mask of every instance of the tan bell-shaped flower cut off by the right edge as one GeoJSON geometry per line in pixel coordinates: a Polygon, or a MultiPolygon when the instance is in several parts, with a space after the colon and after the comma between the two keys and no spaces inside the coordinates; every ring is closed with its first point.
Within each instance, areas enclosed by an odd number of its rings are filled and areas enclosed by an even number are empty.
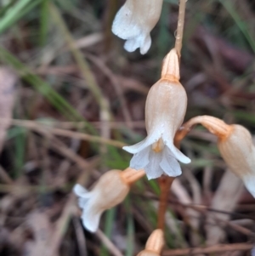
{"type": "Polygon", "coordinates": [[[229,133],[218,139],[218,149],[230,170],[255,197],[255,147],[251,134],[241,125],[229,125],[229,133]]]}

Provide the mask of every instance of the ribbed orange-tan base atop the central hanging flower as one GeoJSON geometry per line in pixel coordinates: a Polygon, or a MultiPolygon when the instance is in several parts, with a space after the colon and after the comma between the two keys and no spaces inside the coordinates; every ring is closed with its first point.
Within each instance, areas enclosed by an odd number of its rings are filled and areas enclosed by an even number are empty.
{"type": "Polygon", "coordinates": [[[178,54],[175,48],[163,60],[161,79],[167,79],[173,82],[179,80],[178,54]]]}

